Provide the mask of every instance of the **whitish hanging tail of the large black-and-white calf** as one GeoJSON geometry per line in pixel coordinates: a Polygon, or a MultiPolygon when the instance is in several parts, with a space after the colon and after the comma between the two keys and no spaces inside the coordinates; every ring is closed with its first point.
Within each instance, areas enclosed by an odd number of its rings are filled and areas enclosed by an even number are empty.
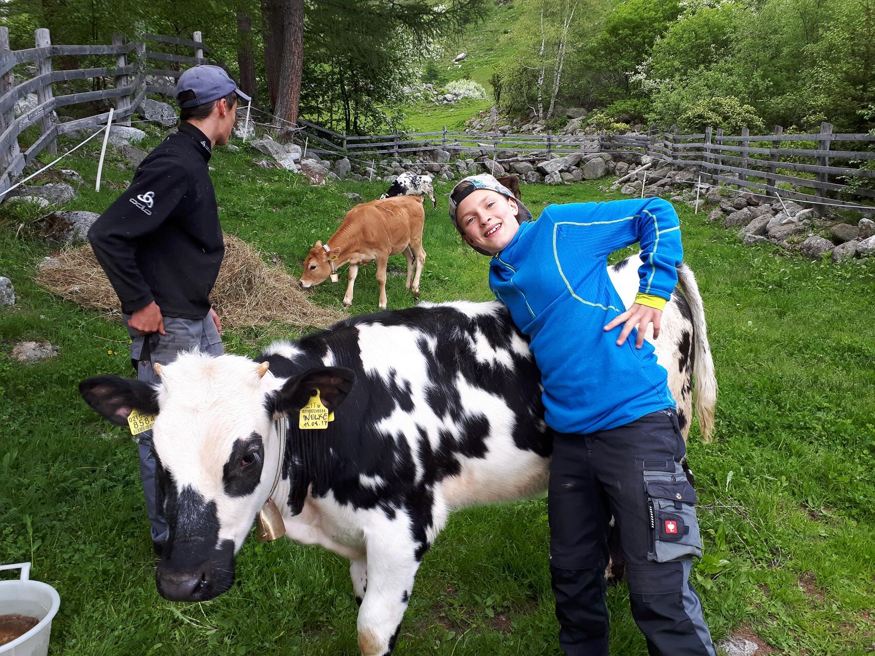
{"type": "Polygon", "coordinates": [[[708,344],[708,327],[705,325],[705,310],[696,276],[684,262],[677,265],[677,281],[687,298],[692,314],[694,348],[696,361],[693,375],[696,387],[693,388],[693,403],[699,419],[699,432],[706,443],[711,442],[714,430],[714,410],[717,407],[717,378],[714,375],[714,360],[711,359],[711,346],[708,344]]]}

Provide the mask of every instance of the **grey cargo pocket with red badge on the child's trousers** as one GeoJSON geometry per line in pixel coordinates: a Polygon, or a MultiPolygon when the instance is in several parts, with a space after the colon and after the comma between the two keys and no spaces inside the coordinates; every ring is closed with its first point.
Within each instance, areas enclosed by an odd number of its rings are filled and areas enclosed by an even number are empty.
{"type": "Polygon", "coordinates": [[[648,560],[670,562],[702,555],[702,536],[696,518],[696,490],[687,481],[683,467],[670,471],[644,471],[648,494],[650,539],[648,560]]]}

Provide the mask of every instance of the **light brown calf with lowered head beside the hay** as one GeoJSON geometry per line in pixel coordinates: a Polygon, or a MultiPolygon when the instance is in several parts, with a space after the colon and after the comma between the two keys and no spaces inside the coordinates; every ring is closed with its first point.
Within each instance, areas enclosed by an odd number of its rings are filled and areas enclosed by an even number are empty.
{"type": "Polygon", "coordinates": [[[423,273],[423,223],[425,209],[419,196],[395,196],[354,206],[337,232],[323,244],[316,242],[304,260],[301,287],[318,285],[328,276],[337,282],[337,268],[349,262],[349,284],[343,304],[353,304],[353,285],[359,265],[377,261],[380,283],[380,308],[386,309],[386,263],[389,255],[403,253],[407,259],[407,283],[404,286],[419,297],[419,276],[423,273]],[[413,261],[416,258],[416,276],[413,261]],[[411,276],[413,278],[411,285],[411,276]]]}

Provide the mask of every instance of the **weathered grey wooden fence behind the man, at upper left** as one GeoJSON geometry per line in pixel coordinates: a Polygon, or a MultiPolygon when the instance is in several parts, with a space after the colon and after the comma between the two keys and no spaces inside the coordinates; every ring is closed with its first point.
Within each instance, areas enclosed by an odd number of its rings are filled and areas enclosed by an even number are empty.
{"type": "MultiPolygon", "coordinates": [[[[153,46],[154,47],[154,46],[153,46]]],[[[146,34],[143,41],[126,41],[119,34],[112,38],[111,45],[52,45],[48,30],[35,31],[34,47],[28,50],[11,51],[9,28],[0,27],[0,192],[11,186],[11,180],[21,174],[27,164],[43,150],[57,151],[56,139],[80,129],[96,128],[107,122],[109,112],[87,116],[81,119],[58,122],[54,110],[66,105],[83,102],[110,100],[116,105],[113,122],[130,125],[133,115],[146,94],[174,95],[171,84],[147,84],[146,76],[158,78],[179,78],[181,72],[175,70],[178,64],[204,64],[204,53],[209,53],[201,43],[200,31],[192,39],[166,37],[159,34],[146,34]],[[183,46],[194,50],[189,57],[172,52],[158,52],[150,49],[151,43],[183,46]],[[113,60],[109,66],[92,68],[72,68],[53,70],[53,57],[91,57],[99,56],[113,60]],[[156,64],[156,62],[158,62],[156,64]],[[16,83],[22,77],[15,73],[16,66],[33,64],[36,68],[29,79],[16,83]],[[162,67],[156,67],[162,66],[162,67]],[[95,91],[56,96],[52,84],[70,80],[112,80],[113,87],[95,91]],[[38,105],[18,116],[14,115],[16,102],[28,94],[36,92],[38,105]],[[38,124],[39,137],[26,150],[18,145],[18,137],[31,125],[38,124]]]]}

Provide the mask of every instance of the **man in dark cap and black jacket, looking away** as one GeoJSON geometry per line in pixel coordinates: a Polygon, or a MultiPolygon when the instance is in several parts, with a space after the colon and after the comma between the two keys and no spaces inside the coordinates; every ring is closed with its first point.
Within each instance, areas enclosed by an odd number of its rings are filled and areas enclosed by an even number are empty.
{"type": "MultiPolygon", "coordinates": [[[[237,99],[249,101],[219,66],[194,66],[176,87],[179,131],[152,150],[88,241],[122,304],[137,378],[200,348],[221,354],[221,322],[209,295],[225,244],[207,162],[234,127],[237,99]]],[[[157,499],[151,430],[139,436],[140,476],[157,553],[167,539],[157,499]]]]}

